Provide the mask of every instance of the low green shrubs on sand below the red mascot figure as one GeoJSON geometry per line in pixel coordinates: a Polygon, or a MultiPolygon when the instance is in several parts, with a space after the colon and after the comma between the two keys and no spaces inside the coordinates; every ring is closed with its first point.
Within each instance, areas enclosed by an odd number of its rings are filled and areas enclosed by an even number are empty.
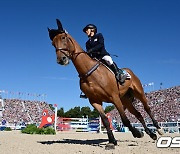
{"type": "Polygon", "coordinates": [[[25,134],[56,134],[55,130],[51,127],[37,128],[34,124],[27,125],[21,132],[25,134]]]}

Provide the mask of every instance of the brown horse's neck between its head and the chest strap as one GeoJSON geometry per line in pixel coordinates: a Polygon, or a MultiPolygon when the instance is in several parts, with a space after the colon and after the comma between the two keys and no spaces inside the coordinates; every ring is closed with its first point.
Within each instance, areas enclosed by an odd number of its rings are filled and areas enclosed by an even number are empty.
{"type": "Polygon", "coordinates": [[[92,68],[92,66],[94,66],[96,62],[85,53],[85,51],[72,38],[72,36],[69,37],[73,41],[75,47],[72,62],[79,74],[85,74],[92,68]]]}

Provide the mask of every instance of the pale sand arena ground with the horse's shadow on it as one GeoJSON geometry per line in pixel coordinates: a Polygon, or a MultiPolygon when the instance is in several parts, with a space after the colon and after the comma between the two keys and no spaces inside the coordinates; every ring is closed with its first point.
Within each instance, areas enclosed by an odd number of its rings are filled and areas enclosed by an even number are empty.
{"type": "MultiPolygon", "coordinates": [[[[165,136],[180,136],[165,134],[165,136]]],[[[56,135],[28,135],[0,131],[0,154],[180,154],[180,148],[157,148],[149,136],[134,138],[131,133],[114,133],[115,149],[105,150],[106,134],[58,132],[56,135]]]]}

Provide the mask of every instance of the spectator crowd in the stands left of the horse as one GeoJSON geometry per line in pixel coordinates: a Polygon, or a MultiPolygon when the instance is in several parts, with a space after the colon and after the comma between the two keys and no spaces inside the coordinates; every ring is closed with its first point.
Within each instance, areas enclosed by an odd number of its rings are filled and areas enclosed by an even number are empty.
{"type": "Polygon", "coordinates": [[[53,111],[46,102],[30,101],[21,99],[4,99],[4,107],[2,111],[2,120],[6,120],[7,124],[39,124],[43,109],[48,109],[50,114],[53,111]]]}

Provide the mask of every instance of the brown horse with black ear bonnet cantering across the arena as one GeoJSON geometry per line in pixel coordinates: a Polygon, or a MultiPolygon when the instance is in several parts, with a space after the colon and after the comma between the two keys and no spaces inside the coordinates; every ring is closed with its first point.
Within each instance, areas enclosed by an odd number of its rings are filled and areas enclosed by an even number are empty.
{"type": "Polygon", "coordinates": [[[107,130],[109,143],[106,145],[117,145],[109,121],[102,107],[103,102],[112,103],[117,108],[124,126],[128,127],[135,138],[144,136],[143,132],[133,127],[125,114],[125,109],[142,123],[145,132],[153,139],[157,135],[152,132],[145,124],[145,121],[139,111],[135,109],[132,102],[134,98],[139,99],[145,111],[152,119],[153,125],[157,128],[160,135],[163,134],[158,122],[155,120],[139,78],[128,68],[124,68],[131,78],[121,85],[115,78],[115,75],[105,67],[102,62],[89,57],[89,55],[80,47],[80,45],[68,34],[62,26],[59,19],[56,19],[58,29],[49,29],[49,37],[56,50],[57,63],[67,65],[71,60],[79,74],[80,89],[88,97],[90,104],[99,112],[103,125],[107,130]]]}

